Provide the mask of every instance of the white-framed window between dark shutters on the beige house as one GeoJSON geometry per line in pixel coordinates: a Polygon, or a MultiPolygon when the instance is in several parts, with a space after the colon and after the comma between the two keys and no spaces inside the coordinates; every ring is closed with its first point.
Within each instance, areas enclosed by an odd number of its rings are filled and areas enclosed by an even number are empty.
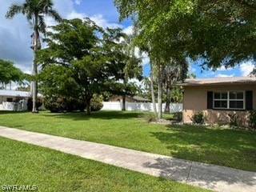
{"type": "Polygon", "coordinates": [[[214,92],[214,109],[245,109],[244,91],[214,92]]]}

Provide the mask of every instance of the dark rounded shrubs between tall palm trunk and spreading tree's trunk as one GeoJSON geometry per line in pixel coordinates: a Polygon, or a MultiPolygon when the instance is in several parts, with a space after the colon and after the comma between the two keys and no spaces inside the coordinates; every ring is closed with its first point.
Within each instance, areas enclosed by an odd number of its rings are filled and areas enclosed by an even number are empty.
{"type": "Polygon", "coordinates": [[[83,111],[86,108],[84,102],[74,98],[44,98],[46,110],[52,113],[72,112],[74,110],[83,111]]]}

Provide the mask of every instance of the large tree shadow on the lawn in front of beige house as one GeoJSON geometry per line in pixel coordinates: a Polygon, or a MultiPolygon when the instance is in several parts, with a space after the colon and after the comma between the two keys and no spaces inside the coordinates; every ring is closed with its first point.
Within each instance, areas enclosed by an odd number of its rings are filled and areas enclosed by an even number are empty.
{"type": "Polygon", "coordinates": [[[206,126],[167,126],[151,132],[166,144],[170,156],[256,171],[256,133],[206,126]]]}

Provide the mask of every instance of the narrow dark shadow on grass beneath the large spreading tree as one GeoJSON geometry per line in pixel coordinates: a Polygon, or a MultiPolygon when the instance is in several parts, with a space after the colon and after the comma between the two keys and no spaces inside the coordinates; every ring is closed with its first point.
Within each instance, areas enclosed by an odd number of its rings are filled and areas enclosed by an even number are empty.
{"type": "Polygon", "coordinates": [[[45,113],[42,114],[46,117],[54,118],[70,118],[74,121],[84,121],[89,119],[130,119],[130,118],[139,118],[141,113],[129,112],[129,111],[96,111],[91,112],[90,115],[87,115],[86,112],[73,112],[73,113],[45,113]]]}

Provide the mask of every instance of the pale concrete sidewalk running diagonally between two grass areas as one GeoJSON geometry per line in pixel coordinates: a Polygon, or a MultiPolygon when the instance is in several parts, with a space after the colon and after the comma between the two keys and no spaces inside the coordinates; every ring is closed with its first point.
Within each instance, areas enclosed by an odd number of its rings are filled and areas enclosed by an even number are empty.
{"type": "Polygon", "coordinates": [[[256,173],[0,126],[0,136],[217,191],[256,191],[256,173]]]}

